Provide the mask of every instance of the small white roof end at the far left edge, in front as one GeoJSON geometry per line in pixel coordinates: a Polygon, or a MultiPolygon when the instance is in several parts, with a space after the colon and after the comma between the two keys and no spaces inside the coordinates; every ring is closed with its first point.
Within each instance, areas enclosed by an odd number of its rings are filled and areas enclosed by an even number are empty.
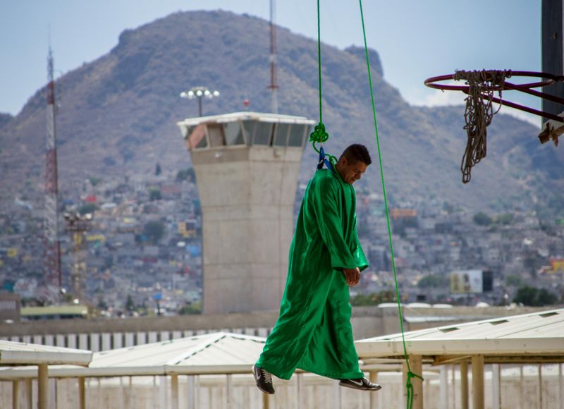
{"type": "Polygon", "coordinates": [[[88,365],[90,350],[0,340],[0,365],[88,365]]]}

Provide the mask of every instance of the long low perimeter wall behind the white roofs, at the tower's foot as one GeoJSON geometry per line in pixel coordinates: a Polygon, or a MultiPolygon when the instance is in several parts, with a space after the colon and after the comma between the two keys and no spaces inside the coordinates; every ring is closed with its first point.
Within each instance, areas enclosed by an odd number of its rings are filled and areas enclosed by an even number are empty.
{"type": "MultiPolygon", "coordinates": [[[[404,308],[404,328],[410,331],[539,310],[548,308],[404,308]]],[[[207,316],[14,322],[0,324],[0,339],[98,351],[216,331],[266,337],[277,318],[276,310],[207,316]]],[[[351,324],[355,339],[400,331],[398,309],[394,307],[354,307],[351,324]]]]}

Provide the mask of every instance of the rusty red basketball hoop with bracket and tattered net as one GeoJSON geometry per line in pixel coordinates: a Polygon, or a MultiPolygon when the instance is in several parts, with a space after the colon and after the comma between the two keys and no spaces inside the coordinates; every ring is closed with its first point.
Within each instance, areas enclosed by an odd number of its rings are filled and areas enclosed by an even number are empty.
{"type": "Polygon", "coordinates": [[[511,70],[456,71],[451,75],[440,75],[425,80],[427,87],[441,91],[462,91],[467,94],[465,98],[466,111],[464,116],[466,124],[464,129],[466,130],[468,140],[460,166],[462,183],[470,182],[472,166],[486,157],[486,128],[491,123],[493,116],[501,108],[501,105],[510,106],[511,108],[546,118],[548,122],[544,123],[543,129],[539,134],[539,140],[541,143],[553,140],[554,145],[558,145],[558,136],[564,133],[564,112],[560,115],[554,115],[539,111],[529,106],[505,101],[502,98],[502,94],[505,90],[520,91],[558,104],[564,104],[563,98],[533,89],[553,85],[563,80],[563,76],[549,73],[511,70]],[[525,84],[514,84],[508,81],[508,78],[512,77],[530,77],[539,78],[539,80],[525,84]],[[448,80],[464,80],[465,85],[440,83],[441,81],[448,80]],[[497,94],[497,97],[494,94],[497,94]],[[497,111],[494,111],[492,108],[492,103],[494,102],[500,105],[497,111]]]}

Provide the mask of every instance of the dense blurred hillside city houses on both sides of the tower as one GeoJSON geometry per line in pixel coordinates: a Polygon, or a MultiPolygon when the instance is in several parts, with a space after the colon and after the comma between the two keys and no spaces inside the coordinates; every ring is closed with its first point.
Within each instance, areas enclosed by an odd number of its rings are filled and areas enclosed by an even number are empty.
{"type": "MultiPolygon", "coordinates": [[[[300,184],[295,212],[305,190],[300,184]]],[[[40,203],[25,193],[0,212],[0,282],[23,305],[87,303],[108,317],[201,311],[200,202],[191,168],[152,176],[90,178],[60,193],[64,293],[42,285],[40,203]],[[92,215],[77,241],[62,214],[92,215]],[[80,277],[79,280],[76,280],[80,277]],[[80,300],[78,300],[80,298],[80,300]]],[[[390,208],[400,296],[405,303],[561,303],[564,225],[534,212],[469,212],[441,200],[390,208]],[[453,271],[489,271],[486,291],[451,288],[453,271]]],[[[357,191],[358,233],[370,267],[351,289],[353,305],[396,300],[381,195],[357,191]]],[[[484,279],[485,280],[485,279],[484,279]]]]}

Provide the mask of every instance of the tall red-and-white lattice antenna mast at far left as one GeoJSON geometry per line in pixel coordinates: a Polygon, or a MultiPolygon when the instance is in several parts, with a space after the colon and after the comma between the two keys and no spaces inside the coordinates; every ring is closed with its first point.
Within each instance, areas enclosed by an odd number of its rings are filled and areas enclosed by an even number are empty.
{"type": "Polygon", "coordinates": [[[59,244],[59,183],[57,181],[56,103],[53,50],[47,57],[47,146],[45,156],[44,283],[61,288],[61,248],[59,244]]]}

